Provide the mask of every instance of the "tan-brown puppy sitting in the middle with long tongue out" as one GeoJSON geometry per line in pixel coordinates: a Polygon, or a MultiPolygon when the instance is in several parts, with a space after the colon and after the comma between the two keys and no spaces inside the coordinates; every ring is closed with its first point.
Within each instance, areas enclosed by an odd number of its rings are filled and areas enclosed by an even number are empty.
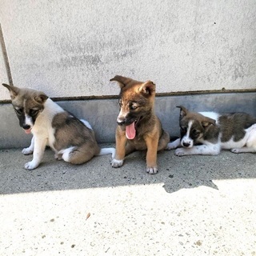
{"type": "Polygon", "coordinates": [[[116,154],[112,166],[122,166],[126,154],[134,150],[147,150],[146,172],[156,174],[157,151],[166,149],[170,138],[162,130],[161,122],[154,114],[155,84],[151,81],[138,82],[119,75],[110,81],[118,82],[121,88],[115,135],[116,154]]]}

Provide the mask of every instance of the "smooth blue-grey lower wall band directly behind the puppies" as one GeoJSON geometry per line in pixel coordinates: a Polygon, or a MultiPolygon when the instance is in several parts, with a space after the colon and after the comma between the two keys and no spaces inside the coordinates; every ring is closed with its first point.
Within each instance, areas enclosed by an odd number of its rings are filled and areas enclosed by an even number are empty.
{"type": "MultiPolygon", "coordinates": [[[[78,118],[89,121],[94,128],[98,142],[114,142],[119,110],[117,99],[62,101],[58,104],[78,118]]],[[[244,111],[256,116],[256,93],[158,97],[155,102],[156,114],[170,136],[179,135],[179,109],[176,106],[180,105],[194,111],[244,111]]],[[[0,113],[2,120],[0,122],[0,149],[29,146],[31,136],[26,135],[18,126],[18,118],[14,114],[13,107],[10,104],[2,104],[0,108],[2,110],[0,113]]]]}

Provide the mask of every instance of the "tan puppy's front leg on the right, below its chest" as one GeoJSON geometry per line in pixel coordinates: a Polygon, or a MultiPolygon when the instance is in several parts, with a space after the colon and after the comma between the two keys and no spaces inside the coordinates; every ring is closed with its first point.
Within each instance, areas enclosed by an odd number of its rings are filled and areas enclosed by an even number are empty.
{"type": "Polygon", "coordinates": [[[146,172],[156,174],[158,172],[157,154],[158,154],[158,139],[146,137],[146,172]]]}

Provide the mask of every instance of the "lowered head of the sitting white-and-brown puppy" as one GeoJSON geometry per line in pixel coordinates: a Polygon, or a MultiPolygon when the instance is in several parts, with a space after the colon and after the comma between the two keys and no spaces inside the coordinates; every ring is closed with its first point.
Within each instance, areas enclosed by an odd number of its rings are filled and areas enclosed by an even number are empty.
{"type": "Polygon", "coordinates": [[[26,134],[34,126],[38,114],[44,109],[44,102],[48,96],[46,94],[32,89],[18,88],[2,84],[10,91],[10,98],[17,114],[19,125],[25,130],[26,134]]]}

